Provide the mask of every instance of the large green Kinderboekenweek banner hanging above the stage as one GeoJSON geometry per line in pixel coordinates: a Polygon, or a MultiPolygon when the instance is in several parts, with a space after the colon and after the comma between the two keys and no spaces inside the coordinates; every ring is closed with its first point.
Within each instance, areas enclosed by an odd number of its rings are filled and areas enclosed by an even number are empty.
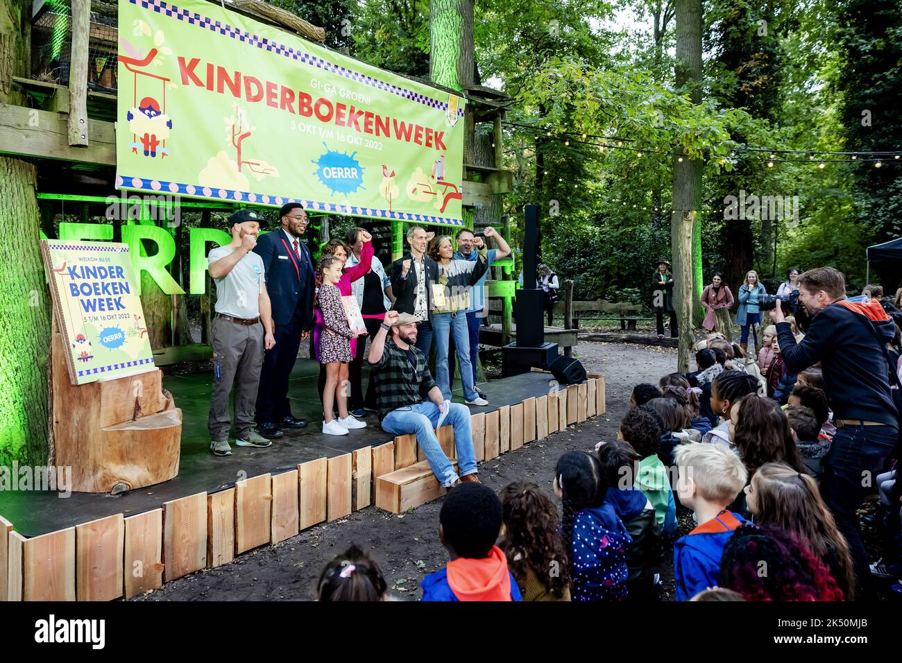
{"type": "Polygon", "coordinates": [[[203,0],[119,0],[118,72],[117,189],[463,226],[463,97],[203,0]]]}

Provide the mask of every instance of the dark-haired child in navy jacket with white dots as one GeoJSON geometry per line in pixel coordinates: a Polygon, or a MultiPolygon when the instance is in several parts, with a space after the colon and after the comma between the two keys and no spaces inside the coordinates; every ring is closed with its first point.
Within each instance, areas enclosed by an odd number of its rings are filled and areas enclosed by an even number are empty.
{"type": "Polygon", "coordinates": [[[562,532],[574,601],[622,601],[627,594],[626,550],[632,539],[604,502],[607,491],[595,456],[568,451],[557,459],[555,494],[564,503],[562,532]]]}

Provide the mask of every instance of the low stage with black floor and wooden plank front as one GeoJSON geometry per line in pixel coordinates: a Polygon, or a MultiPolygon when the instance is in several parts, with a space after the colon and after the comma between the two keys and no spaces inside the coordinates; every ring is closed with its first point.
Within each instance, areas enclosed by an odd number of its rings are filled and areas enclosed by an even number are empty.
{"type": "MultiPolygon", "coordinates": [[[[603,378],[591,377],[559,391],[549,373],[483,383],[490,405],[470,406],[477,460],[603,413],[603,378]]],[[[404,511],[444,493],[416,438],[384,433],[373,413],[367,428],[323,435],[317,378],[318,364],[299,359],[289,396],[308,428],[286,429],[262,449],[233,442],[232,456],[217,457],[207,433],[211,375],[167,376],[183,414],[175,479],[116,497],[0,492],[0,600],[133,596],[371,504],[404,511]],[[135,576],[135,565],[148,572],[135,576]]],[[[453,458],[451,431],[439,438],[453,458]]]]}

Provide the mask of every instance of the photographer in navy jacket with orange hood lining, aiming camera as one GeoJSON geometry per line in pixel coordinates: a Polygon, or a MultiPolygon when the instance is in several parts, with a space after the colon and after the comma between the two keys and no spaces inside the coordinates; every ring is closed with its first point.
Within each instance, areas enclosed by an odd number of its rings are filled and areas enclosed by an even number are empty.
{"type": "Polygon", "coordinates": [[[782,301],[796,303],[795,297],[793,293],[767,298],[761,308],[772,308],[770,318],[777,325],[780,352],[790,373],[821,362],[837,428],[824,462],[821,493],[849,542],[861,591],[857,597],[867,598],[872,596],[870,567],[856,510],[897,443],[898,413],[886,352],[895,327],[879,302],[843,301],[842,272],[820,267],[799,277],[797,305],[813,318],[805,338],[796,344],[781,308],[782,301]]]}

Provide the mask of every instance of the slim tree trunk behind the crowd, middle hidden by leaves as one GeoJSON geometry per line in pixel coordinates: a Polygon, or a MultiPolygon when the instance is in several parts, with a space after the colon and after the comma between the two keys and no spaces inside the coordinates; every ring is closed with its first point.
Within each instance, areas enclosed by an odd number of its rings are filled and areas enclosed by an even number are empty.
{"type": "MultiPolygon", "coordinates": [[[[676,0],[676,88],[688,92],[695,104],[702,101],[702,0],[676,0]]],[[[695,233],[702,202],[702,162],[674,158],[674,206],[670,217],[670,242],[673,251],[674,308],[679,327],[677,370],[689,369],[693,336],[694,309],[701,309],[696,290],[694,253],[701,255],[701,234],[695,233]]]]}

